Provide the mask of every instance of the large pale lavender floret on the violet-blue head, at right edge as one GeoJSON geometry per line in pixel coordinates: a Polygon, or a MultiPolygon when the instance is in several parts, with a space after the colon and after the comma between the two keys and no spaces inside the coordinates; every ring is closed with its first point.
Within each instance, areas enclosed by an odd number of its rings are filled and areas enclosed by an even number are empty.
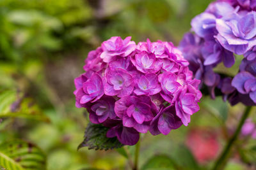
{"type": "Polygon", "coordinates": [[[227,50],[243,55],[256,45],[256,12],[237,15],[232,20],[216,20],[216,39],[227,50]]]}

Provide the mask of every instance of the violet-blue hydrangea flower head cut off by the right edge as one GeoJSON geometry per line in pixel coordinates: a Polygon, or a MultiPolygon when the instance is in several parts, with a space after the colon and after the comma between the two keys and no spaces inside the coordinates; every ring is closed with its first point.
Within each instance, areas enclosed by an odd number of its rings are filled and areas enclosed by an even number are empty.
{"type": "Polygon", "coordinates": [[[180,50],[189,61],[202,85],[212,98],[219,89],[223,99],[232,105],[256,103],[256,0],[218,0],[191,21],[192,31],[180,42],[180,50]],[[234,53],[244,55],[239,73],[234,78],[214,73],[223,62],[235,63],[234,53]]]}

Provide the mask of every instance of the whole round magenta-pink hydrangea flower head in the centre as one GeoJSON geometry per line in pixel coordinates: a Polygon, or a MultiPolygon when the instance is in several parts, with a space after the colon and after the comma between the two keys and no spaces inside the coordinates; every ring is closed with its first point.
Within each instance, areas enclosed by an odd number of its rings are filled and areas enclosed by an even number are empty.
{"type": "Polygon", "coordinates": [[[93,124],[109,127],[108,138],[135,145],[140,132],[168,134],[199,110],[202,97],[188,61],[172,43],[112,37],[88,53],[74,80],[76,106],[93,124]]]}

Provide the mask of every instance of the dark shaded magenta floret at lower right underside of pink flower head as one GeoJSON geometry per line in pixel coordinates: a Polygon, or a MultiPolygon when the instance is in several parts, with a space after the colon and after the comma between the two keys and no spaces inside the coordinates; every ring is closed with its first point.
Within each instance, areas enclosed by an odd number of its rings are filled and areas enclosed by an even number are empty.
{"type": "Polygon", "coordinates": [[[160,111],[150,124],[150,133],[153,135],[167,135],[172,129],[177,129],[182,125],[179,117],[176,115],[175,106],[168,106],[160,111]]]}

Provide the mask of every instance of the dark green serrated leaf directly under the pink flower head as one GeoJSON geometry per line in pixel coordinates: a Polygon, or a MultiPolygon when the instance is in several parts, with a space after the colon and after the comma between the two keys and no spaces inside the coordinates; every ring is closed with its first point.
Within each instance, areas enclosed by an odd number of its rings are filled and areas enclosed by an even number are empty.
{"type": "Polygon", "coordinates": [[[117,138],[107,138],[108,127],[101,124],[89,123],[84,133],[84,141],[78,146],[78,150],[84,146],[95,150],[109,150],[122,147],[117,138]]]}

